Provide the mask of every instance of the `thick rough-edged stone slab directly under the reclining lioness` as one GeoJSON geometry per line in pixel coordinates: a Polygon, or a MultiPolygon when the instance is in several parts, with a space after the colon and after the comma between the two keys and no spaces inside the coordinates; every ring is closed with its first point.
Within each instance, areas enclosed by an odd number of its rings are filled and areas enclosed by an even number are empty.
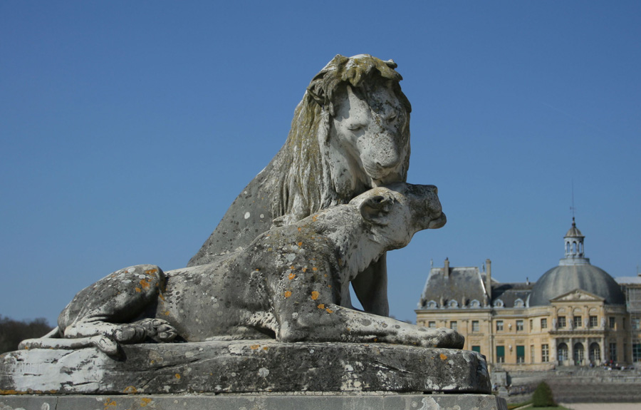
{"type": "Polygon", "coordinates": [[[291,391],[489,393],[484,357],[455,349],[270,340],[33,349],[0,356],[2,394],[291,391]]]}

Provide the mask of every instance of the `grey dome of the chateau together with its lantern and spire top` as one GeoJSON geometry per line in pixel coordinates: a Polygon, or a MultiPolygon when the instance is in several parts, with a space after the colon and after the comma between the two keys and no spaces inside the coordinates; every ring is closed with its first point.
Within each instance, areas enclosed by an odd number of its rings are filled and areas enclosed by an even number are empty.
{"type": "Polygon", "coordinates": [[[603,297],[606,304],[625,304],[625,296],[614,278],[590,265],[590,260],[583,255],[583,238],[572,218],[572,227],[564,238],[566,257],[536,282],[530,294],[530,306],[550,304],[550,299],[574,289],[603,297]]]}

